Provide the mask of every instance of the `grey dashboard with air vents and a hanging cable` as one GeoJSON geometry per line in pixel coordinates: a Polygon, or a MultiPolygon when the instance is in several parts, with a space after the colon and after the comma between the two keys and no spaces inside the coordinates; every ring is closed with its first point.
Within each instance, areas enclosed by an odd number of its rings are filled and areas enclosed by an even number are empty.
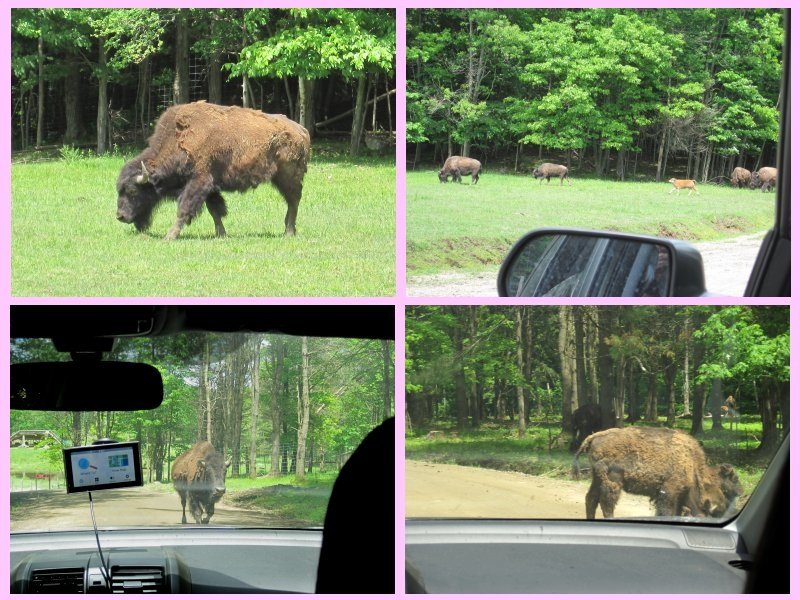
{"type": "Polygon", "coordinates": [[[187,527],[11,535],[11,593],[311,593],[321,530],[187,527]]]}

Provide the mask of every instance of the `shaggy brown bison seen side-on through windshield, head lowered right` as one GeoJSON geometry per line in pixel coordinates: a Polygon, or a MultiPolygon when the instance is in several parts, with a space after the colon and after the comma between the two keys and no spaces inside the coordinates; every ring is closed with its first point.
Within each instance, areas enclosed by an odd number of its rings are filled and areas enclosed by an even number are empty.
{"type": "Polygon", "coordinates": [[[590,435],[575,454],[587,453],[592,483],[586,494],[586,518],[597,505],[603,517],[614,516],[622,491],[647,496],[657,516],[722,517],[742,493],[733,467],[710,467],[700,444],[674,429],[626,427],[590,435]]]}

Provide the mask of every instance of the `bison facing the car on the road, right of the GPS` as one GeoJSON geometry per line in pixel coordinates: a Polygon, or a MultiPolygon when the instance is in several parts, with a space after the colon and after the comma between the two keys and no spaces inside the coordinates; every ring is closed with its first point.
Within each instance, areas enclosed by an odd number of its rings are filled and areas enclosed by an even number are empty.
{"type": "Polygon", "coordinates": [[[195,523],[208,523],[211,520],[214,505],[225,493],[225,472],[230,464],[231,461],[226,461],[209,442],[198,442],[175,459],[172,483],[181,496],[181,523],[186,523],[187,499],[195,523]]]}

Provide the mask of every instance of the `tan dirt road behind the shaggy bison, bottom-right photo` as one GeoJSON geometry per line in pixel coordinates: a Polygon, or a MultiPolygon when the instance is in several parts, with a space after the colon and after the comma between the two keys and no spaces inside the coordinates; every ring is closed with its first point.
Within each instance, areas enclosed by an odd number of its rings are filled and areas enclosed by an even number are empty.
{"type": "MultiPolygon", "coordinates": [[[[583,519],[589,481],[406,461],[406,517],[583,519]]],[[[598,509],[598,517],[600,511],[598,509]]],[[[615,516],[651,516],[647,498],[623,493],[615,516]]]]}

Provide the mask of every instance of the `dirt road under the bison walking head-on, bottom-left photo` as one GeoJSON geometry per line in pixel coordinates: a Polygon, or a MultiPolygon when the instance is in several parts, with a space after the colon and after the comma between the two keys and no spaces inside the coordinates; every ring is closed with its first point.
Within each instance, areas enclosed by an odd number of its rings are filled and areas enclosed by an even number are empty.
{"type": "MultiPolygon", "coordinates": [[[[92,494],[97,526],[159,527],[181,524],[181,502],[170,486],[163,489],[128,488],[101,490],[92,494]]],[[[88,494],[67,494],[64,490],[15,492],[12,496],[11,531],[35,529],[84,529],[92,526],[88,494]]],[[[188,512],[187,519],[194,525],[188,512]]],[[[264,514],[225,503],[217,503],[212,525],[270,527],[264,514]]]]}

